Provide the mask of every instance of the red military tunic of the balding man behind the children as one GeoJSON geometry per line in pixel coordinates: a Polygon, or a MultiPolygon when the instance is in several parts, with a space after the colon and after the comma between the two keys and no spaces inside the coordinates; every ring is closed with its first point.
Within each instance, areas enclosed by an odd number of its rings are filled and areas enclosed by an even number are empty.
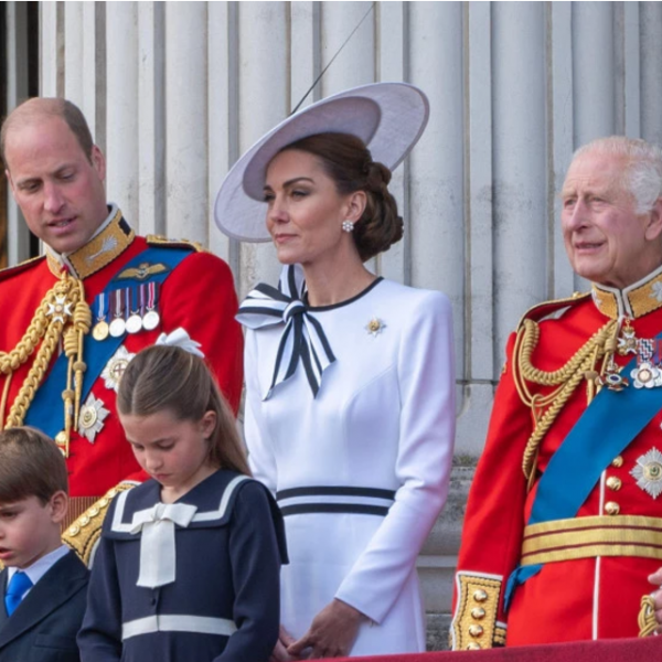
{"type": "MultiPolygon", "coordinates": [[[[119,245],[117,242],[117,236],[121,236],[117,235],[117,223],[121,214],[114,210],[109,218],[110,222],[107,222],[100,237],[97,236],[93,241],[96,241],[95,246],[98,246],[99,242],[107,236],[114,237],[109,244],[106,244],[116,246],[111,249],[111,261],[87,277],[83,274],[85,298],[89,305],[121,270],[121,267],[148,246],[146,238],[139,236],[134,238],[131,232],[126,247],[122,248],[121,242],[119,245]]],[[[126,222],[122,223],[128,227],[126,222]]],[[[169,243],[159,242],[160,245],[168,246],[169,243]]],[[[182,244],[171,245],[182,247],[182,244]]],[[[85,256],[87,248],[84,246],[76,254],[85,256]]],[[[95,249],[94,253],[97,254],[98,250],[95,249]]],[[[85,265],[86,261],[79,259],[81,256],[76,254],[68,256],[67,261],[85,265]]],[[[23,338],[42,299],[58,279],[55,275],[57,267],[57,259],[49,256],[0,273],[0,310],[2,310],[0,350],[3,352],[13,350],[23,338]]],[[[160,314],[158,328],[151,331],[141,330],[135,334],[127,333],[122,341],[126,350],[136,353],[152,345],[160,333],[170,333],[180,327],[183,328],[192,340],[201,343],[201,351],[204,352],[209,365],[214,371],[221,389],[236,412],[243,378],[243,339],[241,327],[234,319],[237,299],[228,266],[210,253],[191,250],[191,254],[184,257],[164,280],[160,289],[158,310],[160,314]]],[[[92,312],[94,324],[96,310],[93,308],[92,312]]],[[[95,342],[93,348],[96,346],[100,346],[100,342],[98,344],[95,342]]],[[[4,420],[35,354],[36,350],[11,377],[4,420]]],[[[54,362],[55,356],[51,360],[51,365],[54,362]]],[[[177,375],[173,375],[173,378],[177,378],[177,375]]],[[[7,377],[1,375],[1,387],[4,387],[6,383],[7,377]]],[[[62,389],[64,388],[63,383],[62,389]]],[[[108,387],[106,380],[99,375],[93,384],[92,394],[103,402],[104,408],[109,414],[103,420],[103,428],[94,435],[93,441],[81,436],[77,430],[72,430],[67,468],[71,495],[74,498],[73,514],[79,514],[117,483],[127,479],[146,478],[140,472],[119,424],[115,409],[116,391],[108,387]],[[76,498],[85,499],[77,501],[76,498]]],[[[53,407],[64,412],[60,391],[53,407]]],[[[62,418],[64,420],[64,413],[62,418]]]]}

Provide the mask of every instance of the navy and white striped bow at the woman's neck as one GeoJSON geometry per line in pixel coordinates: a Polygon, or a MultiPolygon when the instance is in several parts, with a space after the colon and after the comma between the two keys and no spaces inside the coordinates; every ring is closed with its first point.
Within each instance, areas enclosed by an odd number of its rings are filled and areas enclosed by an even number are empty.
{"type": "Polygon", "coordinates": [[[278,289],[260,282],[239,306],[236,319],[249,329],[257,331],[285,324],[276,352],[271,385],[264,399],[271,396],[278,384],[295,374],[299,363],[303,365],[314,398],[324,370],[335,362],[322,325],[308,312],[302,301],[305,293],[301,268],[289,265],[280,275],[278,289]]]}

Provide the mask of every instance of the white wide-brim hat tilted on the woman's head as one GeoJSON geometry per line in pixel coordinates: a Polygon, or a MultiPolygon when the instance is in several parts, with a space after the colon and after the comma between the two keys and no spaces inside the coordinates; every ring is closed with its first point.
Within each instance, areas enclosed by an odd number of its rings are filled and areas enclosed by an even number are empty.
{"type": "Polygon", "coordinates": [[[373,160],[394,170],[420,138],[428,120],[425,94],[407,83],[373,83],[330,96],[290,115],[263,136],[221,184],[214,220],[242,242],[268,242],[264,186],[271,159],[292,142],[316,134],[361,138],[373,160]]]}

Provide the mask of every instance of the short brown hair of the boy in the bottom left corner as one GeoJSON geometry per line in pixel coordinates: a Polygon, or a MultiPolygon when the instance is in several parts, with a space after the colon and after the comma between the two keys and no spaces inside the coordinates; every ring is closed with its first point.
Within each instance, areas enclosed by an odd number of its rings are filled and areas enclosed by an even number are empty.
{"type": "Polygon", "coordinates": [[[0,503],[36,496],[45,504],[61,490],[68,494],[66,463],[53,439],[31,427],[0,433],[0,503]]]}

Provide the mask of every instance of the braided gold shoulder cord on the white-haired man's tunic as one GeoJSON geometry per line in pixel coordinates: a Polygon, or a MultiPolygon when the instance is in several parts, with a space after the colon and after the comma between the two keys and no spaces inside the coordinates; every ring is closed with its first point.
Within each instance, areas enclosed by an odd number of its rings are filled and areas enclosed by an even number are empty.
{"type": "Polygon", "coordinates": [[[531,363],[531,355],[540,339],[540,327],[534,320],[525,319],[517,331],[513,350],[513,378],[522,402],[531,407],[534,418],[534,430],[522,460],[522,470],[528,480],[528,488],[535,478],[535,460],[543,437],[563,409],[569,397],[583,380],[587,380],[587,401],[591,402],[596,394],[596,366],[605,359],[600,374],[605,372],[608,359],[611,359],[617,346],[619,325],[610,320],[599,329],[570,360],[560,369],[545,372],[531,363]],[[542,386],[557,386],[548,395],[532,394],[526,382],[542,386]]]}

